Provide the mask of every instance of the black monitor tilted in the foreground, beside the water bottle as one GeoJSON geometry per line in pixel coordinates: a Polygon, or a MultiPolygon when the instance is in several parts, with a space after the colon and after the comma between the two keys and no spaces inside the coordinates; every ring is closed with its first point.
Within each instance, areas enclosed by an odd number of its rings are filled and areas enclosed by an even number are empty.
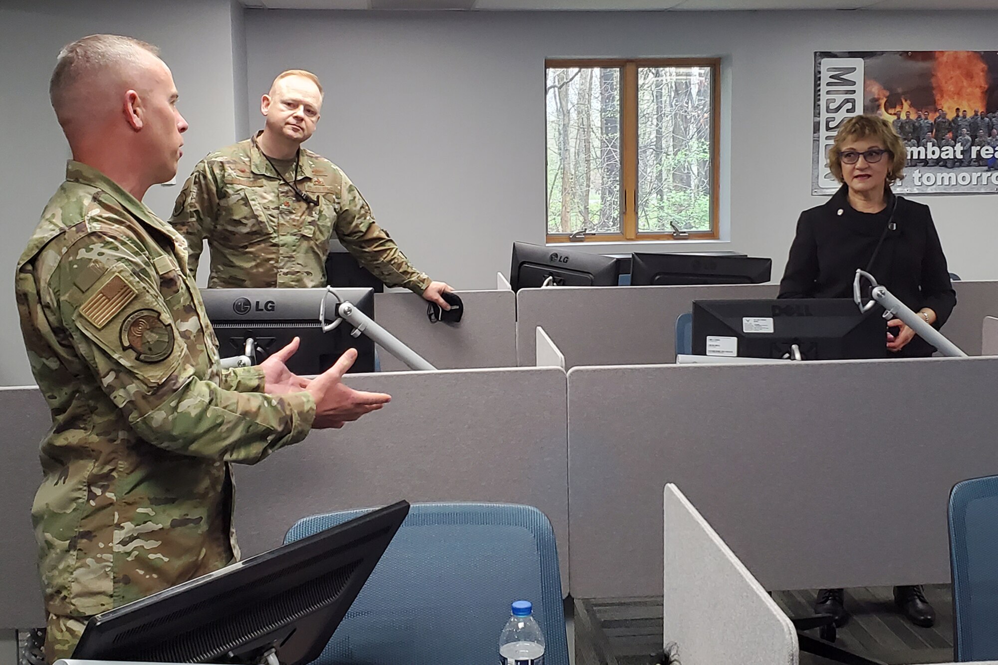
{"type": "Polygon", "coordinates": [[[313,661],[409,512],[399,501],[92,617],[74,659],[313,661]]]}

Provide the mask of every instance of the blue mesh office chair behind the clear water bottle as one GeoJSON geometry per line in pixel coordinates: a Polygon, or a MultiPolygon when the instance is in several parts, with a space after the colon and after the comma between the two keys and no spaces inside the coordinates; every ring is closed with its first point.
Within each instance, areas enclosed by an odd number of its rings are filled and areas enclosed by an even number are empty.
{"type": "MultiPolygon", "coordinates": [[[[364,510],[299,520],[292,542],[364,510]]],[[[554,531],[537,508],[414,503],[317,665],[499,662],[510,603],[529,600],[545,665],[569,665],[554,531]]]]}

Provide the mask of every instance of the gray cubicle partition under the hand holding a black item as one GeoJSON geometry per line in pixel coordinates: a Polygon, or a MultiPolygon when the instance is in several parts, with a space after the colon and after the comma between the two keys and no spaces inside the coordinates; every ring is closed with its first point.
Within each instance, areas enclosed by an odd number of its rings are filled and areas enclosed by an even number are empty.
{"type": "MultiPolygon", "coordinates": [[[[511,291],[462,291],[460,324],[431,324],[427,302],[410,292],[374,295],[374,319],[438,369],[515,367],[516,295],[511,291]]],[[[408,367],[378,349],[383,371],[408,367]]]]}

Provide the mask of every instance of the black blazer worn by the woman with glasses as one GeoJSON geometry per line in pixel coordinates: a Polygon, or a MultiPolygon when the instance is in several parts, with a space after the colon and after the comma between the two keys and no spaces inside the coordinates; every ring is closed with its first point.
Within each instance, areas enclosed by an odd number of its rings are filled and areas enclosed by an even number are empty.
{"type": "MultiPolygon", "coordinates": [[[[956,306],[956,292],[928,206],[889,194],[882,212],[860,213],[846,194],[843,185],[823,205],[800,214],[778,297],[851,299],[861,268],[913,311],[931,308],[938,317],[934,328],[942,328],[956,306]],[[874,257],[892,207],[896,229],[887,231],[874,257]]],[[[920,357],[934,350],[916,335],[897,355],[920,357]]]]}

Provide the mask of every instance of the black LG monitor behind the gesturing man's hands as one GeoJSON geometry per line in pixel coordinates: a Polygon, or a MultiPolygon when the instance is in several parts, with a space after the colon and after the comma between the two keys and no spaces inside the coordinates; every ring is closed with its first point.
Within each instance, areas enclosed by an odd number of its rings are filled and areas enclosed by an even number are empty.
{"type": "MultiPolygon", "coordinates": [[[[336,293],[360,312],[374,319],[374,296],[370,289],[337,289],[336,293]]],[[[212,322],[222,357],[243,355],[248,338],[256,344],[256,361],[300,337],[297,352],[287,361],[296,374],[319,374],[328,369],[347,348],[357,349],[351,372],[374,371],[374,342],[353,337],[343,322],[323,333],[318,322],[322,299],[326,316],[335,311],[335,299],[325,289],[203,289],[202,300],[212,322]]]]}

